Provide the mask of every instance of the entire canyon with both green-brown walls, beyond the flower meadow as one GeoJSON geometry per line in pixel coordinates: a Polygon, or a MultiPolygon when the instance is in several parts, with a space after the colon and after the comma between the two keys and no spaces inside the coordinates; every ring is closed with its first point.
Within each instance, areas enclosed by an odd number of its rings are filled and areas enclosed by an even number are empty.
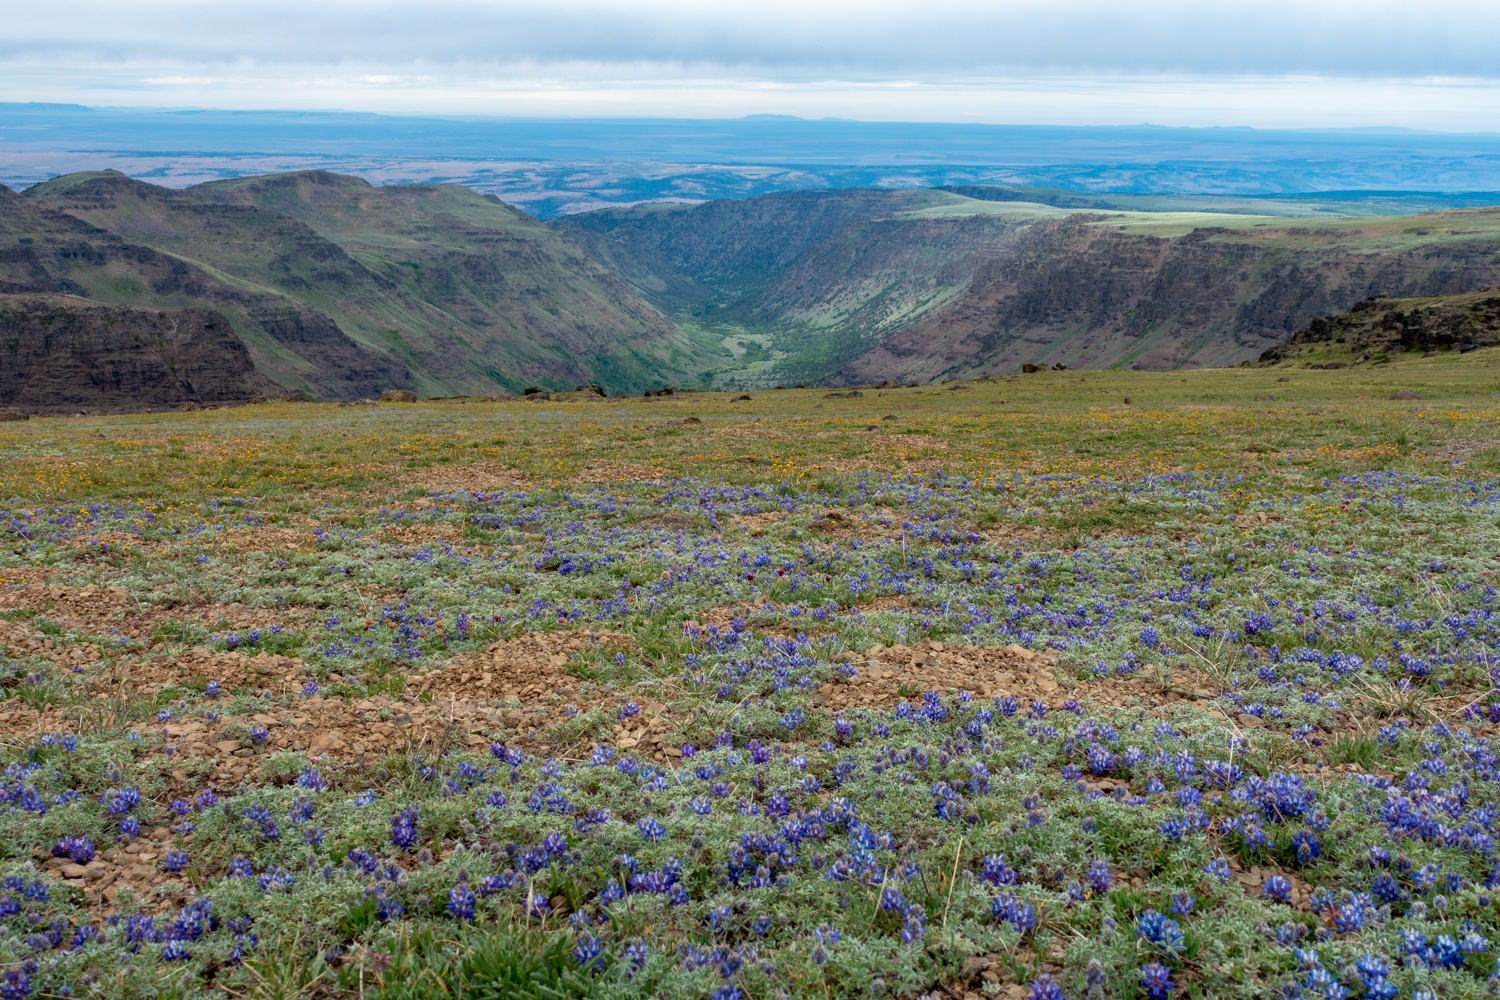
{"type": "Polygon", "coordinates": [[[543,225],[462,186],[70,174],[0,187],[0,406],[1233,364],[1371,295],[1500,286],[1500,208],[1245,207],[963,186],[543,225]],[[38,394],[54,370],[94,388],[38,394]]]}

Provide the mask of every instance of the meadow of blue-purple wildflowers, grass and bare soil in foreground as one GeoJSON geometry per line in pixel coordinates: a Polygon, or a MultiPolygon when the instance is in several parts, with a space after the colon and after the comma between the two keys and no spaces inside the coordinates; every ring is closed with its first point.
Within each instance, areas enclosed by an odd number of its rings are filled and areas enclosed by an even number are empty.
{"type": "Polygon", "coordinates": [[[1497,442],[1494,349],[0,424],[0,997],[1494,996],[1497,442]]]}

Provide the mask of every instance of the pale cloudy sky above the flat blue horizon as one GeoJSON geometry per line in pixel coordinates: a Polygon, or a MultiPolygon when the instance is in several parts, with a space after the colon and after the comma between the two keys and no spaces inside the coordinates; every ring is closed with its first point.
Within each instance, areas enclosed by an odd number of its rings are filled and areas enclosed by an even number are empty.
{"type": "Polygon", "coordinates": [[[48,0],[0,100],[1500,132],[1496,0],[48,0]]]}

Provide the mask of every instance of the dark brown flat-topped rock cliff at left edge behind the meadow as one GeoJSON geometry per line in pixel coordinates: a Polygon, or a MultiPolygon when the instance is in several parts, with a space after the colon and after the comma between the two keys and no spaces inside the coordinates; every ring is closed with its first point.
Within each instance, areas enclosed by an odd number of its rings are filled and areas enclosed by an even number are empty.
{"type": "Polygon", "coordinates": [[[270,391],[274,385],[216,312],[0,295],[0,406],[124,412],[246,402],[270,391]]]}

